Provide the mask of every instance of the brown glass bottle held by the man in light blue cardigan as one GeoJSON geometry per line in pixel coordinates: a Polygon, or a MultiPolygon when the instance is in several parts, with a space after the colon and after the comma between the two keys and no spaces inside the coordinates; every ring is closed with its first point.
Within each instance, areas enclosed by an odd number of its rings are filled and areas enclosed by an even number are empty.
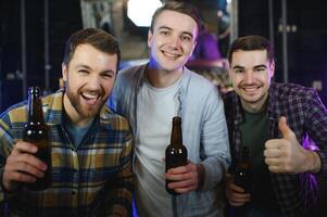
{"type": "MultiPolygon", "coordinates": [[[[171,144],[166,148],[165,159],[166,171],[169,168],[187,165],[187,149],[183,144],[181,118],[178,116],[173,117],[171,144]]],[[[166,191],[173,195],[178,195],[179,193],[168,188],[169,182],[172,181],[166,180],[166,191]]]]}

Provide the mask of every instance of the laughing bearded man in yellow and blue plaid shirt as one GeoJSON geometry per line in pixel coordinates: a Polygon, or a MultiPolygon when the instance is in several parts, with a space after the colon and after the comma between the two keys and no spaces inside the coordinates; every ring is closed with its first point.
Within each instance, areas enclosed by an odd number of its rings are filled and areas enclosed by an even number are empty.
{"type": "Polygon", "coordinates": [[[52,148],[52,183],[43,191],[24,187],[48,169],[22,141],[26,102],[1,114],[0,201],[9,216],[130,215],[133,138],[127,120],[105,105],[118,64],[117,40],[101,29],[67,40],[64,89],[41,99],[52,148]]]}

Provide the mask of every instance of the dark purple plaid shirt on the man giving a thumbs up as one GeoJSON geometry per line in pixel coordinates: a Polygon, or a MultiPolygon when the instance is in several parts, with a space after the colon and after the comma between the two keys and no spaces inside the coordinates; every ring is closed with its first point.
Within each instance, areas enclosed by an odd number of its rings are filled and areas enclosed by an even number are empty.
{"type": "MultiPolygon", "coordinates": [[[[322,161],[317,176],[327,176],[327,111],[317,92],[293,84],[272,82],[268,93],[267,115],[269,119],[269,138],[281,138],[278,130],[280,116],[286,116],[289,127],[294,131],[300,144],[307,141],[322,161]]],[[[239,125],[242,122],[240,99],[235,91],[224,95],[225,113],[229,131],[232,163],[236,165],[241,146],[239,125]]],[[[305,146],[307,149],[307,146],[305,146]]],[[[284,216],[313,216],[316,204],[316,180],[312,174],[273,174],[272,184],[284,216]]]]}

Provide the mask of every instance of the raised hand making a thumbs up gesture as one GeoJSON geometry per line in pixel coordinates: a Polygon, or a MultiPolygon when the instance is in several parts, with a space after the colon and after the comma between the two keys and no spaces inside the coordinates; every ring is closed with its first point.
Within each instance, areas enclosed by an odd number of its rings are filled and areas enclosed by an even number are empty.
{"type": "Polygon", "coordinates": [[[318,154],[301,146],[294,132],[287,125],[286,117],[280,117],[278,129],[282,138],[271,139],[265,143],[264,156],[268,169],[281,174],[318,173],[320,169],[318,154]]]}

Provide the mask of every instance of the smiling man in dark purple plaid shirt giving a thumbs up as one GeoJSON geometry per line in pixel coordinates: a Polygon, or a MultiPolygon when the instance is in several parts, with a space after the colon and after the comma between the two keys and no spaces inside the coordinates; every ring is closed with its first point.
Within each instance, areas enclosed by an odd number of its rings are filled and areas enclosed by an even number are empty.
{"type": "Polygon", "coordinates": [[[230,174],[241,145],[250,150],[251,174],[248,192],[227,176],[230,205],[242,206],[241,216],[316,216],[315,176],[327,175],[327,110],[316,90],[272,81],[274,52],[264,37],[236,39],[228,61],[235,90],[224,95],[230,174]]]}

